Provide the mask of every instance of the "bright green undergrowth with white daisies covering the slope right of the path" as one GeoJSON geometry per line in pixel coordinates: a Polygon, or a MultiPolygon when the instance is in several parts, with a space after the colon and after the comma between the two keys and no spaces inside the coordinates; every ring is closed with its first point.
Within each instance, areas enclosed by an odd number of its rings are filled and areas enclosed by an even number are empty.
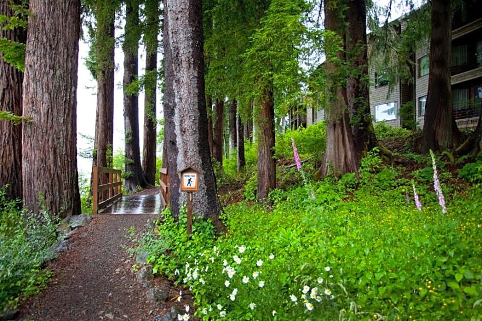
{"type": "Polygon", "coordinates": [[[166,213],[150,262],[191,288],[190,313],[206,320],[480,319],[482,186],[460,190],[437,160],[443,213],[425,161],[408,179],[371,154],[360,180],[301,180],[269,209],[233,203],[218,239],[206,222],[188,238],[184,216],[166,213]]]}

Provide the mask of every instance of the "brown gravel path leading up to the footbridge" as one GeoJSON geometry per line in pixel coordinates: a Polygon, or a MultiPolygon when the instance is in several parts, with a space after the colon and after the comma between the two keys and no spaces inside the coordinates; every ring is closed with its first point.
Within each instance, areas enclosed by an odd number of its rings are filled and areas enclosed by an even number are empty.
{"type": "MultiPolygon", "coordinates": [[[[127,230],[142,230],[155,215],[97,215],[80,228],[49,268],[52,282],[21,307],[20,319],[146,320],[158,308],[131,272],[127,230]]],[[[155,313],[155,314],[154,314],[155,313]]]]}

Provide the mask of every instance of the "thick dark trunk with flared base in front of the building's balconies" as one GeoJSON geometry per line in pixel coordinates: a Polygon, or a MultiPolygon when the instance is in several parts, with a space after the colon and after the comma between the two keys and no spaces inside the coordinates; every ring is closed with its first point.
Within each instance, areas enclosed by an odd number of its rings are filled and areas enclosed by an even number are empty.
{"type": "Polygon", "coordinates": [[[460,139],[452,112],[450,53],[452,0],[433,0],[430,31],[430,73],[421,152],[452,148],[460,139]]]}

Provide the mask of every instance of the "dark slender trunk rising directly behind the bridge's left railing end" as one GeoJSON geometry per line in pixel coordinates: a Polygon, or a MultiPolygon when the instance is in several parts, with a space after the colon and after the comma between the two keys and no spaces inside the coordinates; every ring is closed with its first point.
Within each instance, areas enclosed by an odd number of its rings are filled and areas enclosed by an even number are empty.
{"type": "Polygon", "coordinates": [[[124,189],[137,191],[137,186],[146,187],[142,173],[139,147],[139,100],[137,94],[127,87],[136,79],[138,72],[139,46],[139,2],[128,0],[126,4],[126,36],[124,39],[124,131],[125,131],[125,173],[124,189]]]}

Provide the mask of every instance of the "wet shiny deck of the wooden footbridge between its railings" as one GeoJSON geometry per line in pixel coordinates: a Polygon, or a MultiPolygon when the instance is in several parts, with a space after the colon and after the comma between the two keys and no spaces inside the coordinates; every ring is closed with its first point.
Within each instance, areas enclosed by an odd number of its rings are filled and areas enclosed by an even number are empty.
{"type": "Polygon", "coordinates": [[[162,211],[160,195],[128,195],[102,211],[103,214],[159,214],[162,211]]]}

